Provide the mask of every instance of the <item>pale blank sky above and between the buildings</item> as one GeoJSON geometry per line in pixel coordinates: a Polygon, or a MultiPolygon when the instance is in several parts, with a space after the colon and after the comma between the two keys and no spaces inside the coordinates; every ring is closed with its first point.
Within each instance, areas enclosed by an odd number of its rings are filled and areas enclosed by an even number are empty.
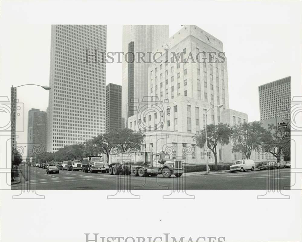
{"type": "MultiPolygon", "coordinates": [[[[297,66],[301,62],[299,22],[292,24],[290,21],[267,21],[267,24],[260,24],[257,21],[237,21],[229,24],[221,21],[213,24],[212,21],[195,19],[191,24],[223,42],[227,58],[229,107],[247,113],[249,121],[260,120],[259,85],[287,76],[292,76],[292,83],[301,82],[297,79],[298,76],[293,75],[294,71],[299,71],[297,66]]],[[[169,35],[172,36],[181,28],[180,24],[169,25],[169,35]]],[[[37,21],[35,24],[1,22],[0,80],[1,89],[5,93],[9,94],[11,85],[49,85],[50,30],[50,24],[37,21]]],[[[109,51],[122,51],[120,24],[107,25],[107,52],[109,51]]],[[[121,85],[121,68],[121,64],[107,64],[106,84],[111,82],[121,85]]],[[[2,92],[0,96],[3,96],[2,92]]],[[[24,114],[17,121],[17,129],[24,130],[20,133],[18,143],[26,143],[27,113],[31,108],[46,111],[48,92],[39,87],[25,86],[18,88],[18,99],[24,104],[24,114]]]]}

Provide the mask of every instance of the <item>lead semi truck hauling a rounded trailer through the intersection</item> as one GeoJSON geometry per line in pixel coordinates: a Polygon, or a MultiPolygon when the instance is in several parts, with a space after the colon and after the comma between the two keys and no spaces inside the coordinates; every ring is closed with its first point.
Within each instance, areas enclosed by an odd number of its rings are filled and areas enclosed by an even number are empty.
{"type": "Polygon", "coordinates": [[[152,176],[162,174],[169,178],[171,175],[182,176],[183,164],[179,159],[161,151],[151,153],[145,151],[121,152],[109,156],[108,173],[110,175],[131,174],[131,176],[152,176]]]}

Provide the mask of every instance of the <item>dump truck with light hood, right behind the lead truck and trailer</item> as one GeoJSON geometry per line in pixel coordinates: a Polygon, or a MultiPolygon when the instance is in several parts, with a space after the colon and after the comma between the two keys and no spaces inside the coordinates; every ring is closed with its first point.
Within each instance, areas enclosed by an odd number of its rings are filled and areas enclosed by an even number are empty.
{"type": "Polygon", "coordinates": [[[102,156],[88,156],[83,158],[81,163],[82,172],[97,173],[101,171],[106,172],[106,165],[102,159],[102,156]]]}

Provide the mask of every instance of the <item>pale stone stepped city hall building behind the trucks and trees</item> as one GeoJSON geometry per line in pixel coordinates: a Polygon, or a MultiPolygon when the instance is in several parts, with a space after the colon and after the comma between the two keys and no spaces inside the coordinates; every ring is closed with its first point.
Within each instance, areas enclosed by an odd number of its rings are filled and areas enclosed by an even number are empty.
{"type": "MultiPolygon", "coordinates": [[[[149,65],[148,95],[134,105],[136,114],[128,118],[127,127],[145,133],[141,147],[145,151],[163,150],[187,163],[203,163],[207,155],[208,162],[214,163],[212,151],[197,147],[193,135],[206,123],[248,122],[247,114],[229,109],[222,42],[195,25],[186,25],[155,52],[163,55],[149,65]],[[223,107],[215,107],[219,104],[223,107]]],[[[231,144],[217,145],[218,162],[242,156],[232,153],[231,144]]]]}

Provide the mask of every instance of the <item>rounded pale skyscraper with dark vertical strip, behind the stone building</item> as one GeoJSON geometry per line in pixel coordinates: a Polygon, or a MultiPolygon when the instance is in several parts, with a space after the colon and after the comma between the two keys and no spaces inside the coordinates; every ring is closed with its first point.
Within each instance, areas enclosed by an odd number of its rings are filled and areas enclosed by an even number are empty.
{"type": "Polygon", "coordinates": [[[169,39],[169,25],[124,25],[123,26],[123,52],[132,52],[128,55],[128,61],[122,62],[122,118],[125,125],[127,118],[136,114],[135,104],[141,102],[148,95],[147,72],[149,63],[138,63],[138,52],[145,55],[143,58],[149,62],[147,52],[169,39]],[[132,62],[132,63],[131,63],[132,62]]]}

